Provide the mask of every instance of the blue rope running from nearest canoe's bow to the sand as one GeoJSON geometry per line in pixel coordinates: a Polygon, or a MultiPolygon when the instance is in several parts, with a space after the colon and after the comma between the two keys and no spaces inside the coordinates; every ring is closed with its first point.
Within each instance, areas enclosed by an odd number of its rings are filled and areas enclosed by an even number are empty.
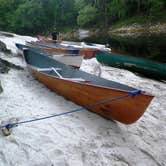
{"type": "Polygon", "coordinates": [[[101,102],[98,102],[98,103],[95,103],[95,104],[88,105],[86,107],[80,107],[80,108],[72,110],[72,111],[68,111],[68,112],[64,112],[64,113],[60,113],[60,114],[55,114],[55,115],[50,115],[50,116],[46,116],[46,117],[41,117],[41,118],[36,118],[36,119],[20,121],[20,122],[16,122],[16,123],[9,123],[7,125],[0,126],[0,128],[5,128],[7,130],[10,130],[11,128],[18,126],[19,124],[31,123],[31,122],[34,122],[34,121],[40,121],[40,120],[50,119],[50,118],[53,118],[53,117],[59,117],[59,116],[79,112],[79,111],[82,111],[82,110],[87,110],[87,109],[90,109],[90,108],[93,108],[93,107],[96,107],[96,106],[100,106],[100,105],[103,105],[103,104],[106,104],[106,103],[115,102],[115,101],[118,101],[118,100],[121,100],[121,99],[124,99],[124,98],[127,98],[127,97],[134,98],[135,96],[137,96],[139,94],[144,94],[144,93],[145,93],[144,91],[135,90],[135,91],[129,92],[126,95],[119,96],[119,97],[112,98],[112,99],[105,100],[105,101],[101,101],[101,102]]]}

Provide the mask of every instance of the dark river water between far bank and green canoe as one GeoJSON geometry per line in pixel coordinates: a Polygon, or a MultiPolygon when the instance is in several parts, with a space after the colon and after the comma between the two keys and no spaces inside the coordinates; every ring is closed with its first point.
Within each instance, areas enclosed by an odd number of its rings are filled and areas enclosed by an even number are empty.
{"type": "Polygon", "coordinates": [[[166,34],[140,36],[99,35],[83,39],[86,42],[109,44],[113,53],[151,59],[166,63],[166,34]]]}

